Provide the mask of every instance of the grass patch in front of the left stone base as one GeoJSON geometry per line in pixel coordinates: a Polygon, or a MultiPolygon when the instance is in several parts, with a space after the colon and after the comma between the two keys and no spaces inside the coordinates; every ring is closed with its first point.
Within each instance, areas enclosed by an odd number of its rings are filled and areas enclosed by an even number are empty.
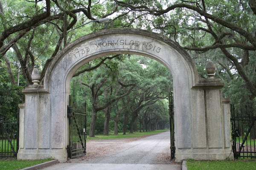
{"type": "Polygon", "coordinates": [[[52,159],[42,160],[17,160],[17,159],[0,159],[1,170],[20,170],[25,167],[30,167],[36,164],[50,161],[52,159]]]}

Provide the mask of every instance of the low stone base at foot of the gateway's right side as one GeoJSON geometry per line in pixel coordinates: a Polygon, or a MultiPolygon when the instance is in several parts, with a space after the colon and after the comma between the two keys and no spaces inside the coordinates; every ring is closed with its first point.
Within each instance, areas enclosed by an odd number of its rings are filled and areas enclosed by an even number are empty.
{"type": "Polygon", "coordinates": [[[175,150],[175,161],[194,160],[233,160],[232,149],[175,150]]]}

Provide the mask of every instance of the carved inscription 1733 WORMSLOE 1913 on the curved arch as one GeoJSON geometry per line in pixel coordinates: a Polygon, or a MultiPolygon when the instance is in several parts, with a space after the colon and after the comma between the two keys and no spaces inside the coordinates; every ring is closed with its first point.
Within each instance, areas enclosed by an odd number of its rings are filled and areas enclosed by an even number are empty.
{"type": "MultiPolygon", "coordinates": [[[[93,48],[107,48],[107,47],[116,47],[120,48],[122,46],[124,48],[137,48],[142,51],[155,51],[157,53],[160,52],[161,48],[154,43],[151,42],[140,42],[137,40],[108,40],[108,41],[100,41],[100,42],[93,42],[93,48]]],[[[65,58],[80,58],[86,56],[90,53],[89,45],[81,46],[70,51],[65,58]]]]}

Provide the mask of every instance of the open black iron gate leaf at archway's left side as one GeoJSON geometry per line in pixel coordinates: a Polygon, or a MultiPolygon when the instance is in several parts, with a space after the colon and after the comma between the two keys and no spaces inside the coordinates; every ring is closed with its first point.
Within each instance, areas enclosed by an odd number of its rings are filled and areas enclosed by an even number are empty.
{"type": "Polygon", "coordinates": [[[86,104],[77,108],[70,96],[67,106],[67,117],[69,118],[69,145],[67,153],[70,159],[84,156],[86,154],[86,104]]]}

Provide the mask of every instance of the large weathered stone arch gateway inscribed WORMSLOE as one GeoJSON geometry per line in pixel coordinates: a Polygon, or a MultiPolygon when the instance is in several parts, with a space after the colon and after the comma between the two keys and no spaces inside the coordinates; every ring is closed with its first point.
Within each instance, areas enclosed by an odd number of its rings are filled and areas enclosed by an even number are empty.
{"type": "Polygon", "coordinates": [[[86,62],[110,54],[150,57],[171,72],[176,161],[230,156],[229,102],[221,97],[220,80],[200,80],[195,63],[176,42],[149,31],[117,28],[88,34],[70,43],[52,60],[43,85],[29,85],[23,90],[25,103],[19,105],[17,159],[67,160],[70,80],[86,62]]]}

